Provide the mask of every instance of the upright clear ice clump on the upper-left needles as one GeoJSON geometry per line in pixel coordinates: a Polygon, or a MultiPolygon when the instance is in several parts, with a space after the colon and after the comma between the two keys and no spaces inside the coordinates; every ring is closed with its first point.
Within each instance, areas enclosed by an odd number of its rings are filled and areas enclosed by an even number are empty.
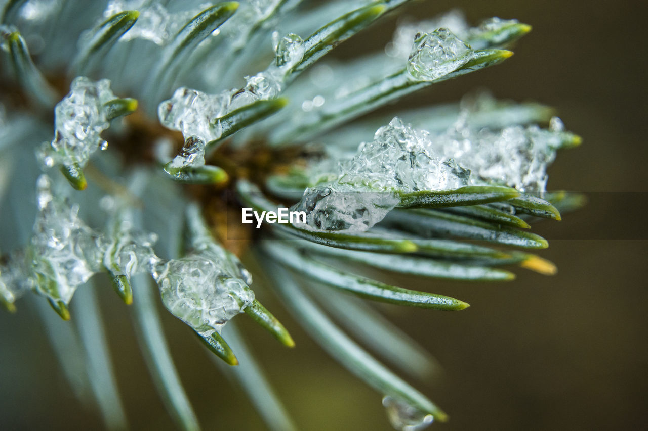
{"type": "Polygon", "coordinates": [[[86,166],[97,149],[107,146],[100,137],[109,126],[104,104],[115,98],[109,80],[93,82],[85,76],[75,78],[70,93],[54,108],[54,139],[44,142],[38,151],[41,162],[48,167],[86,166]]]}

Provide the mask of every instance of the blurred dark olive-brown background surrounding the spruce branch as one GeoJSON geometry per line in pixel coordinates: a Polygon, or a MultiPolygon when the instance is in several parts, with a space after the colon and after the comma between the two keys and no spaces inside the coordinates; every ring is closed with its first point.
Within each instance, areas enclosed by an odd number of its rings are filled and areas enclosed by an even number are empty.
{"type": "MultiPolygon", "coordinates": [[[[540,253],[556,276],[517,271],[511,283],[467,284],[400,279],[400,285],[461,298],[460,313],[385,308],[389,318],[437,357],[435,379],[415,382],[450,414],[443,430],[646,429],[648,390],[648,34],[640,1],[423,1],[403,14],[434,16],[460,8],[476,23],[516,17],[533,31],[502,65],[435,85],[400,105],[457,100],[486,87],[498,98],[557,108],[583,137],[550,170],[550,189],[600,192],[564,221],[535,231],[550,239],[540,253]],[[636,192],[636,193],[624,193],[636,192]],[[643,192],[643,193],[641,193],[643,192]]],[[[396,18],[336,52],[384,45],[396,18]]],[[[396,112],[398,109],[395,110],[396,112]]],[[[405,118],[406,120],[406,118],[405,118]]],[[[380,395],[343,370],[299,329],[281,305],[259,294],[284,321],[297,348],[284,349],[241,318],[249,342],[303,430],[389,430],[380,395]]],[[[133,429],[172,429],[135,342],[129,311],[109,289],[100,293],[119,387],[133,429]]],[[[0,428],[93,429],[92,410],[71,393],[29,300],[0,313],[0,428]]],[[[72,305],[74,313],[74,303],[72,305]]],[[[52,312],[53,313],[53,312],[52,312]]],[[[191,337],[163,313],[179,373],[205,429],[264,429],[191,337]]]]}

